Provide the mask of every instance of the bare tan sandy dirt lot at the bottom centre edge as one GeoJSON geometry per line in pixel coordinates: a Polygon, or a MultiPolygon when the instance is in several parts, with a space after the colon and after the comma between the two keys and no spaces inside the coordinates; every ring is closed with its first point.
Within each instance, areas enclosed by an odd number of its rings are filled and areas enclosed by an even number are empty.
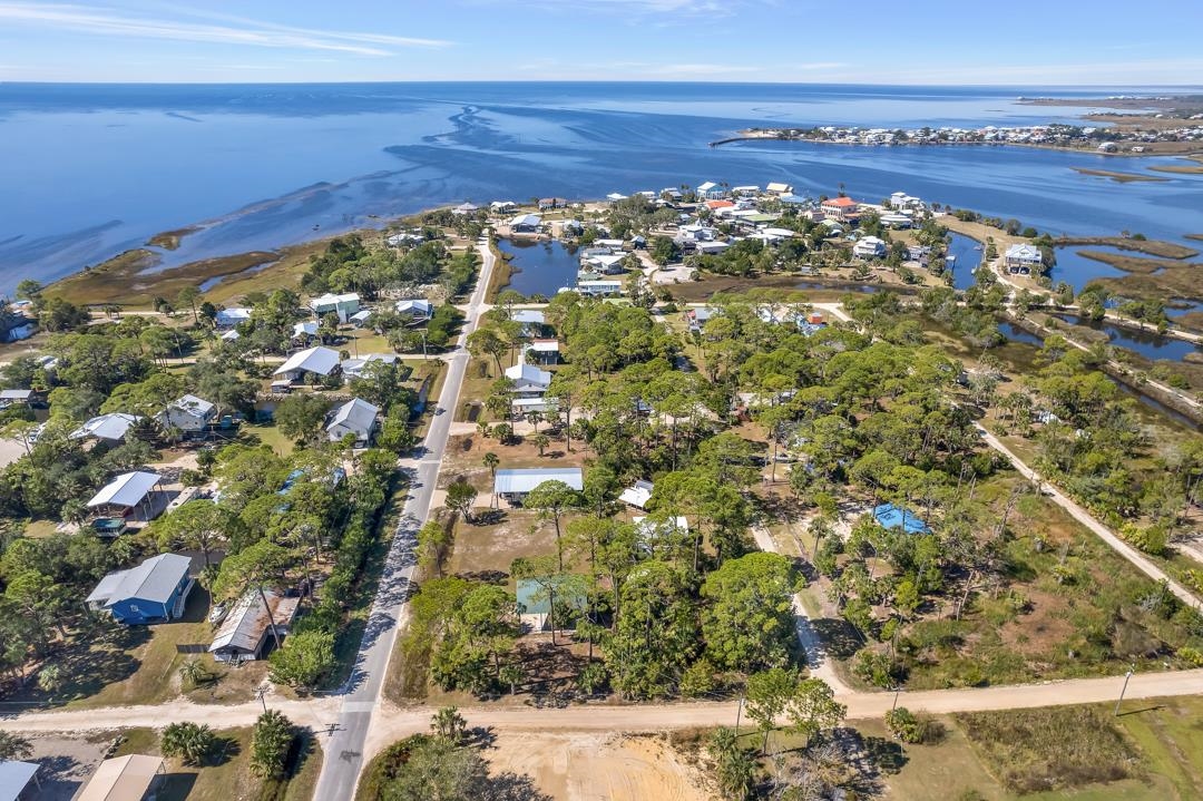
{"type": "Polygon", "coordinates": [[[494,771],[529,776],[556,801],[710,801],[698,769],[660,735],[503,732],[494,771]]]}

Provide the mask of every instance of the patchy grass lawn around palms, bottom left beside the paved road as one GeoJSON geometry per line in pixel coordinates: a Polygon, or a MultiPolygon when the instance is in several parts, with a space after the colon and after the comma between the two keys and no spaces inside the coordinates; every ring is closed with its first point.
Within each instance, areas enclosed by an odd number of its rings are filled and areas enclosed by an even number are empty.
{"type": "MultiPolygon", "coordinates": [[[[291,754],[286,778],[262,779],[250,772],[249,726],[219,729],[223,750],[208,765],[192,767],[178,759],[167,760],[167,781],[155,796],[158,801],[308,801],[313,797],[321,770],[321,749],[313,735],[304,732],[291,754]]],[[[114,756],[126,754],[159,755],[159,732],[152,729],[129,729],[114,756]]]]}

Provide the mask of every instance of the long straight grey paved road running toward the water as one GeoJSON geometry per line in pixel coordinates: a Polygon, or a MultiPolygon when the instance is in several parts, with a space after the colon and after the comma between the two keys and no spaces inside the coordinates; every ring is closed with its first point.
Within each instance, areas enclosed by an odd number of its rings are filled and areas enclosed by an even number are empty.
{"type": "MultiPolygon", "coordinates": [[[[439,477],[439,464],[446,449],[451,420],[458,405],[460,388],[468,368],[468,351],[464,342],[475,330],[485,305],[485,290],[493,271],[493,256],[487,241],[479,245],[484,265],[480,279],[467,308],[467,321],[455,350],[448,362],[448,376],[443,382],[439,407],[431,420],[429,431],[417,456],[402,459],[401,469],[410,475],[410,494],[402,510],[401,522],[393,534],[392,547],[385,562],[384,574],[377,591],[375,603],[368,616],[368,625],[356,657],[355,670],[340,690],[342,706],[337,728],[322,742],[325,759],[318,777],[315,801],[340,801],[355,793],[356,781],[363,767],[363,743],[373,726],[380,692],[389,670],[389,658],[403,628],[408,613],[405,600],[411,588],[416,563],[416,535],[431,512],[434,486],[439,477]]],[[[298,720],[300,722],[300,720],[298,720]]]]}

